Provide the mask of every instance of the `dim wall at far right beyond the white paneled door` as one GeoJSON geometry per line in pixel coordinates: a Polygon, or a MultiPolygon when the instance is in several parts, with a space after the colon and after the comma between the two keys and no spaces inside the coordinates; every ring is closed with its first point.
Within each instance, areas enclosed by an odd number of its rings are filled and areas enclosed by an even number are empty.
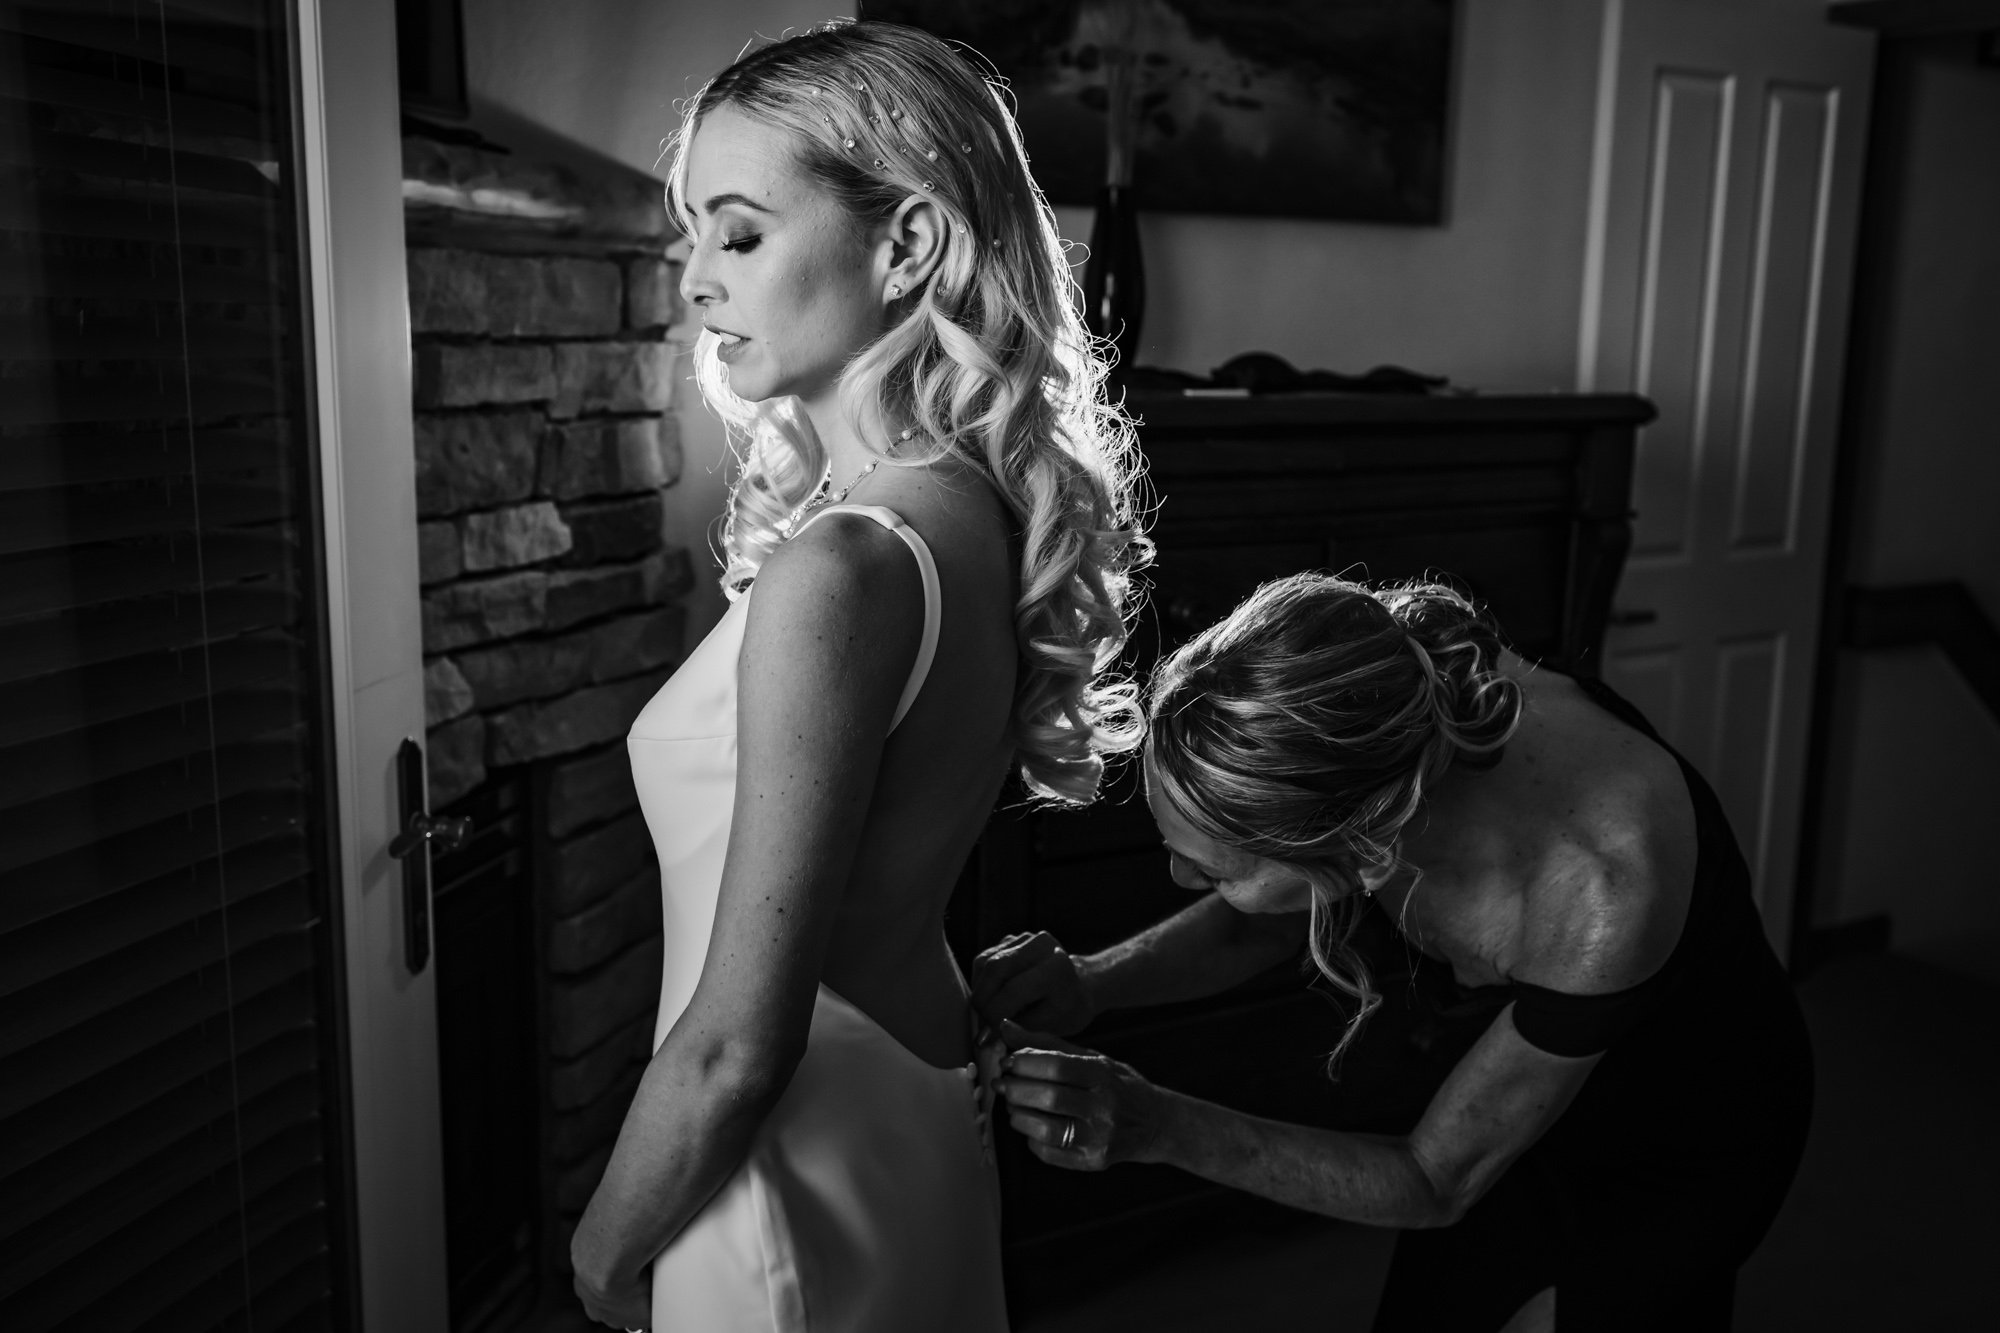
{"type": "MultiPolygon", "coordinates": [[[[2000,622],[2000,68],[1972,38],[1906,40],[1894,60],[1850,578],[1958,578],[2000,622]]],[[[1886,911],[1900,951],[2000,979],[2000,723],[1934,648],[1848,654],[1836,701],[1822,919],[1886,911]]]]}

